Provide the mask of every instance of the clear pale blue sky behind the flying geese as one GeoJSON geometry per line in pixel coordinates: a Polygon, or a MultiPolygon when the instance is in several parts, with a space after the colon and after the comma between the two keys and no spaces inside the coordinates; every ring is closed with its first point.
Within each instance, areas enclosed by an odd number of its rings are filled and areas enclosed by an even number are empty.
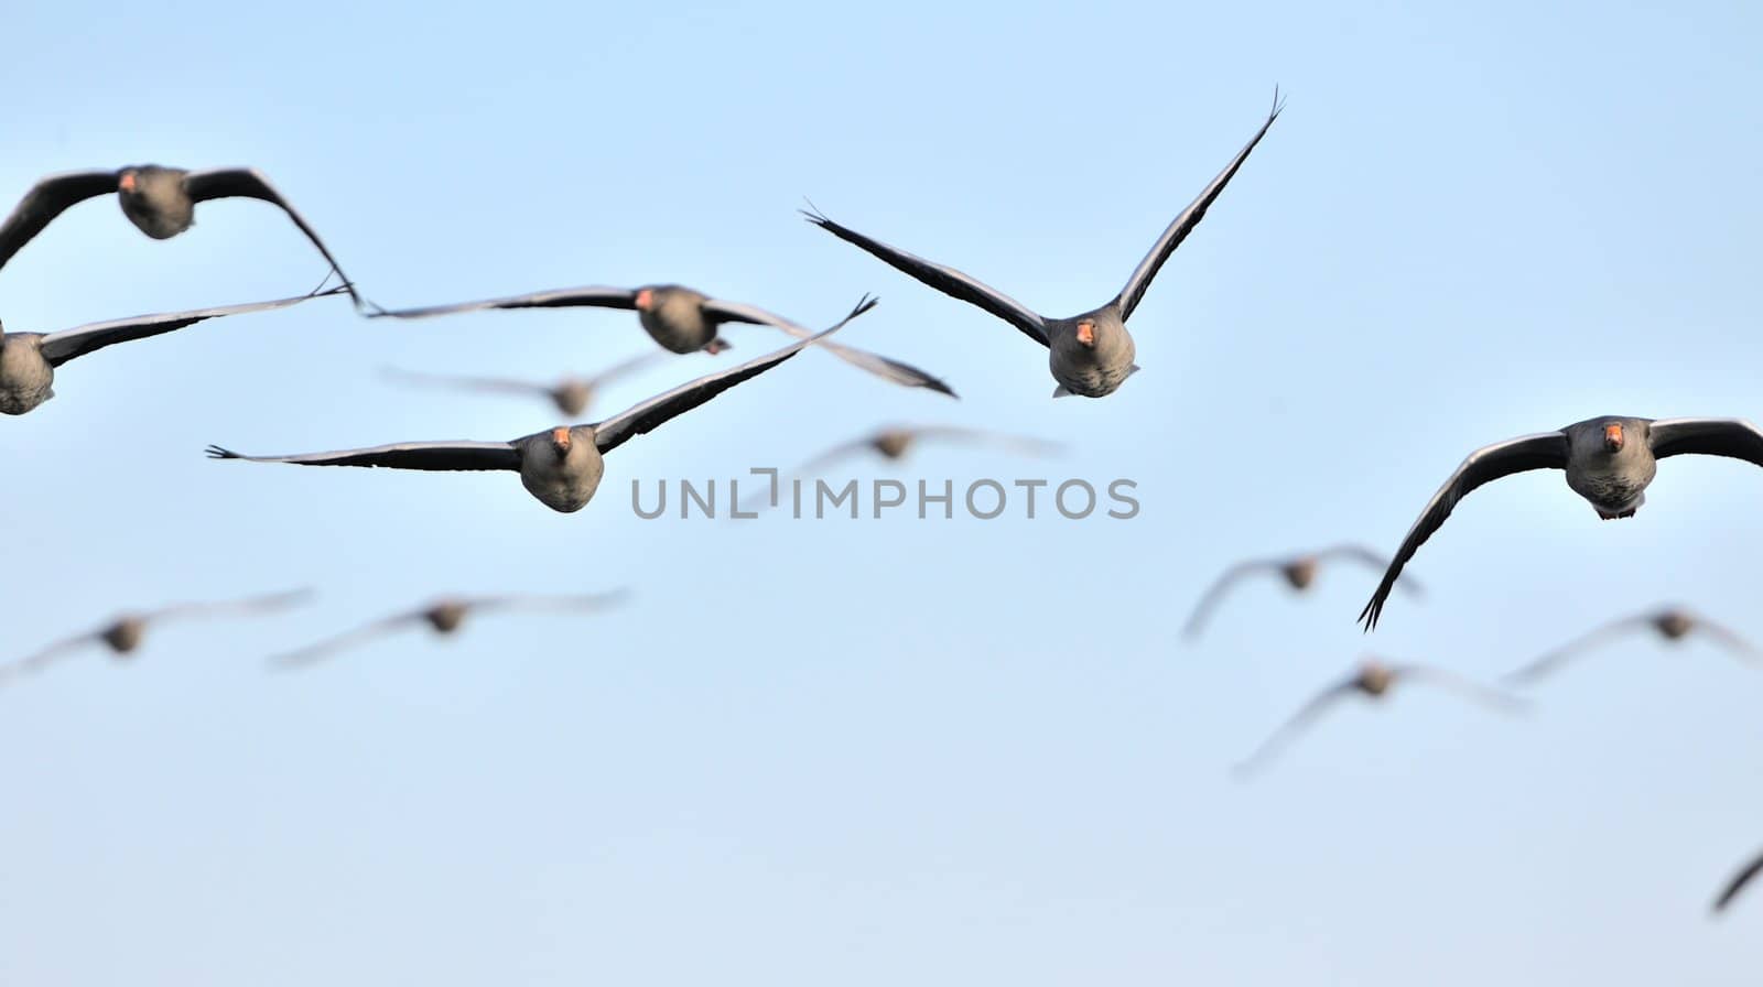
{"type": "MultiPolygon", "coordinates": [[[[1763,673],[1613,645],[1507,721],[1416,687],[1229,767],[1366,649],[1490,679],[1680,599],[1763,634],[1763,474],[1673,460],[1631,522],[1558,474],[1474,494],[1430,596],[1245,585],[1393,550],[1472,448],[1596,414],[1763,418],[1754,4],[113,4],[7,14],[0,197],[41,174],[264,169],[386,305],[684,282],[941,374],[806,354],[621,448],[578,515],[508,474],[203,458],[510,439],[543,404],[377,368],[550,377],[652,349],[619,312],[367,323],[344,301],[65,367],[0,421],[7,656],[127,606],[312,585],[0,694],[0,982],[1751,985],[1763,673]],[[652,7],[652,5],[651,5],[652,7]],[[804,224],[1065,315],[1112,296],[1291,95],[1132,321],[1144,370],[1045,352],[804,224]],[[885,421],[1068,442],[848,476],[1137,481],[1130,522],[654,520],[629,481],[800,462],[885,421]],[[307,673],[263,657],[435,594],[603,590],[307,673]]],[[[270,206],[171,241],[115,201],[0,271],[11,330],[296,294],[270,206]]],[[[779,345],[684,356],[592,418],[779,345]]],[[[853,472],[855,471],[855,472],[853,472]]]]}

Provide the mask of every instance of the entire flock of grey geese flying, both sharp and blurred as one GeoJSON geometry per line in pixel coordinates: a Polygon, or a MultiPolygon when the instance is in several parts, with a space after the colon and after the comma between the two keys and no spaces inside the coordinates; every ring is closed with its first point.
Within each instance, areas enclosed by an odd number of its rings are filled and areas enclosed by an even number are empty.
{"type": "MultiPolygon", "coordinates": [[[[1199,226],[1201,219],[1213,206],[1224,189],[1238,174],[1250,153],[1280,116],[1282,100],[1275,95],[1273,109],[1255,136],[1236,153],[1162,233],[1151,250],[1139,261],[1120,294],[1100,307],[1088,308],[1068,317],[1047,317],[1030,310],[1001,291],[980,280],[924,257],[890,247],[880,240],[857,233],[846,226],[827,219],[818,210],[806,212],[807,220],[832,236],[852,243],[889,266],[911,278],[961,301],[975,305],[998,319],[1003,319],[1028,338],[1047,349],[1047,367],[1056,382],[1053,397],[1081,395],[1104,398],[1114,393],[1134,372],[1135,347],[1127,330],[1128,319],[1149,289],[1157,271],[1164,266],[1176,247],[1199,226]]],[[[677,284],[652,284],[640,287],[569,287],[490,298],[481,301],[462,301],[450,305],[430,305],[420,308],[388,310],[368,301],[356,287],[356,282],[344,275],[330,249],[317,233],[294,212],[293,204],[270,183],[270,180],[250,167],[226,167],[210,171],[185,171],[162,166],[129,166],[115,171],[78,171],[55,174],[41,180],[14,206],[4,226],[0,226],[0,268],[12,259],[26,243],[42,234],[51,222],[65,210],[99,196],[115,194],[122,212],[129,220],[150,238],[166,240],[190,229],[196,219],[196,204],[212,199],[257,199],[282,210],[287,219],[305,234],[312,247],[330,264],[330,271],[317,289],[296,298],[259,301],[247,305],[227,305],[215,308],[194,308],[189,312],[171,312],[157,315],[136,315],[113,319],[49,333],[9,333],[0,324],[0,412],[26,414],[55,397],[55,374],[65,363],[81,356],[90,356],[109,345],[145,340],[155,335],[171,333],[208,319],[249,315],[270,312],[291,305],[307,303],[335,294],[347,294],[356,312],[370,319],[428,319],[474,310],[494,308],[622,308],[636,312],[636,319],[649,337],[666,352],[709,352],[719,354],[733,347],[725,338],[725,326],[749,324],[779,330],[793,342],[739,363],[718,374],[709,374],[689,381],[679,388],[663,391],[619,414],[594,423],[559,425],[531,435],[502,441],[476,442],[395,442],[386,446],[300,453],[300,455],[243,455],[229,448],[210,446],[208,455],[222,460],[279,462],[294,465],[354,465],[354,467],[390,467],[416,471],[508,471],[518,472],[525,490],[554,511],[580,511],[592,501],[605,472],[605,456],[626,441],[652,432],[663,423],[712,400],[716,395],[751,381],[760,374],[785,363],[807,347],[830,352],[837,360],[850,363],[892,384],[920,388],[934,393],[956,397],[956,391],[940,377],[901,363],[897,360],[867,352],[832,342],[829,337],[850,321],[869,312],[876,301],[864,296],[841,321],[827,330],[813,331],[799,323],[776,315],[769,310],[739,301],[725,301],[677,284]],[[340,280],[340,287],[326,287],[331,278],[340,280]]],[[[483,377],[444,377],[421,375],[388,370],[388,375],[404,382],[437,384],[448,388],[492,391],[504,395],[525,395],[548,400],[561,414],[582,416],[592,404],[598,388],[608,381],[631,374],[640,367],[661,358],[658,352],[621,363],[596,375],[564,377],[552,382],[504,381],[483,377]]],[[[818,469],[827,462],[873,449],[887,458],[899,458],[917,441],[956,441],[956,442],[993,442],[1012,448],[1024,455],[1047,451],[1053,446],[1033,439],[1010,435],[993,435],[957,427],[890,427],[871,435],[841,444],[806,464],[802,469],[818,469]]],[[[1493,442],[1472,451],[1462,465],[1446,479],[1421,509],[1419,518],[1409,529],[1393,557],[1382,557],[1356,545],[1326,548],[1320,552],[1289,557],[1261,559],[1243,562],[1225,571],[1218,582],[1204,594],[1188,619],[1185,634],[1197,636],[1213,610],[1225,594],[1243,578],[1257,573],[1276,573],[1294,590],[1305,590],[1317,578],[1319,569],[1335,562],[1356,562],[1382,569],[1379,582],[1359,620],[1366,631],[1375,629],[1395,589],[1419,592],[1410,578],[1403,578],[1403,568],[1414,559],[1421,545],[1426,543],[1449,518],[1456,504],[1477,486],[1518,472],[1536,469],[1560,469],[1566,472],[1567,486],[1583,497],[1597,511],[1599,518],[1629,518],[1645,502],[1647,486],[1657,472],[1657,462],[1678,455],[1714,455],[1740,458],[1763,465],[1763,432],[1754,425],[1737,418],[1668,418],[1647,419],[1631,416],[1601,416],[1567,425],[1551,432],[1523,435],[1493,442]]],[[[44,666],[78,652],[88,645],[104,645],[116,656],[134,652],[146,627],[166,620],[183,620],[194,617],[247,617],[254,613],[275,612],[294,606],[307,597],[305,590],[279,592],[227,603],[192,603],[123,613],[108,624],[67,640],[44,647],[42,650],[0,666],[0,682],[41,672],[44,666]]],[[[370,638],[393,633],[404,627],[427,624],[439,634],[458,631],[469,613],[495,610],[578,610],[594,612],[614,606],[622,594],[591,596],[506,596],[506,597],[444,597],[425,603],[376,620],[363,627],[346,631],[338,636],[317,642],[310,647],[277,656],[272,663],[279,668],[298,668],[314,664],[333,652],[363,643],[370,638]]],[[[1506,684],[1521,686],[1558,670],[1571,657],[1603,643],[1617,634],[1633,631],[1654,631],[1668,642],[1677,642],[1700,633],[1730,652],[1744,659],[1758,659],[1758,652],[1744,638],[1684,608],[1663,608],[1638,613],[1599,627],[1567,645],[1551,650],[1532,663],[1513,670],[1506,684]]],[[[1419,664],[1391,664],[1379,659],[1366,659],[1350,677],[1329,686],[1303,709],[1299,709],[1278,731],[1273,733],[1238,770],[1248,772],[1261,767],[1298,731],[1312,724],[1322,712],[1338,700],[1363,694],[1377,700],[1386,696],[1398,682],[1430,682],[1449,689],[1469,700],[1484,703],[1499,710],[1520,707],[1520,700],[1504,689],[1481,686],[1460,679],[1439,668],[1419,664]]],[[[1721,890],[1714,908],[1724,909],[1733,897],[1759,872],[1763,857],[1758,857],[1731,878],[1721,890]]]]}

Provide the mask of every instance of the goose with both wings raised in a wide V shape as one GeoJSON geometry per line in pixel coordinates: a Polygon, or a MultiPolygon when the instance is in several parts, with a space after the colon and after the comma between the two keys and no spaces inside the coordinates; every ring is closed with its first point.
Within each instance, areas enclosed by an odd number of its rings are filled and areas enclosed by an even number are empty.
{"type": "Polygon", "coordinates": [[[1151,278],[1157,277],[1158,268],[1164,261],[1176,252],[1176,247],[1186,240],[1188,233],[1199,226],[1201,219],[1206,217],[1206,210],[1213,204],[1224,187],[1236,176],[1236,171],[1243,167],[1248,160],[1248,153],[1255,150],[1261,137],[1266,136],[1268,127],[1280,116],[1280,97],[1273,97],[1273,111],[1268,113],[1268,122],[1261,125],[1261,130],[1243,146],[1241,152],[1211,180],[1206,189],[1201,190],[1199,197],[1176,217],[1174,222],[1164,229],[1164,234],[1151,245],[1151,252],[1139,261],[1139,268],[1132,271],[1127,278],[1127,287],[1120,291],[1112,300],[1098,308],[1081,312],[1068,319],[1053,319],[1030,310],[1021,301],[1010,298],[1008,294],[980,284],[973,277],[957,271],[956,268],[947,268],[926,261],[924,257],[915,257],[896,247],[889,247],[880,240],[871,240],[862,233],[850,227],[839,226],[818,212],[804,212],[809,222],[825,229],[827,233],[853,243],[892,268],[911,275],[913,278],[948,294],[950,298],[959,298],[970,305],[977,305],[986,312],[1010,323],[1023,331],[1028,338],[1047,347],[1047,365],[1053,370],[1053,379],[1058,381],[1053,397],[1061,398],[1067,395],[1082,395],[1088,398],[1100,398],[1114,393],[1121,381],[1130,377],[1139,365],[1134,363],[1135,347],[1132,335],[1127,331],[1127,319],[1132,317],[1132,310],[1139,307],[1139,300],[1144,298],[1144,291],[1151,287],[1151,278]]]}

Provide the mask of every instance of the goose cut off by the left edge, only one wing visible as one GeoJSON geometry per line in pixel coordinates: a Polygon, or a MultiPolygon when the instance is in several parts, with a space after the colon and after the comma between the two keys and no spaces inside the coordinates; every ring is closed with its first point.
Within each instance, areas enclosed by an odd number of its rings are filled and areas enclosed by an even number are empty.
{"type": "Polygon", "coordinates": [[[298,298],[257,301],[252,305],[229,305],[226,308],[136,315],[132,319],[92,323],[90,326],[62,330],[58,333],[9,333],[0,324],[0,414],[25,414],[53,398],[55,368],[106,345],[157,337],[182,330],[183,326],[194,326],[203,319],[287,308],[309,298],[323,298],[340,291],[338,287],[319,294],[301,294],[298,298]]]}

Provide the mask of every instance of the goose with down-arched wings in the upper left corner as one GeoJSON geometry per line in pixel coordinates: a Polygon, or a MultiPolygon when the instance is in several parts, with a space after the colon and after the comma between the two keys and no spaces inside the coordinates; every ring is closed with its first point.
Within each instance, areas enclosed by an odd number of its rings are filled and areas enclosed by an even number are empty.
{"type": "Polygon", "coordinates": [[[120,171],[69,171],[51,174],[25,194],[5,224],[0,224],[0,268],[25,243],[42,233],[55,217],[86,199],[116,192],[122,212],[141,233],[153,240],[169,240],[196,222],[196,203],[208,199],[259,199],[287,213],[300,233],[330,261],[331,271],[356,305],[363,305],[349,277],[342,273],[319,234],[300,219],[287,199],[254,167],[213,167],[185,171],[157,164],[132,164],[120,171]]]}

